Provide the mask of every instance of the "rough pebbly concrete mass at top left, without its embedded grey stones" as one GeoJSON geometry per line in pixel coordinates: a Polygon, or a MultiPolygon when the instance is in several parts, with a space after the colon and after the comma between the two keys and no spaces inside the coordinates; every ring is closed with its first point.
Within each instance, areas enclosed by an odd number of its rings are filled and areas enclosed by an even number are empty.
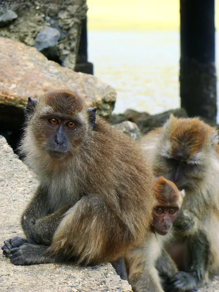
{"type": "Polygon", "coordinates": [[[28,46],[45,27],[60,32],[52,50],[43,51],[49,59],[74,69],[81,35],[81,21],[86,17],[86,0],[0,0],[0,12],[13,10],[18,16],[13,22],[4,22],[0,37],[8,37],[28,46]]]}

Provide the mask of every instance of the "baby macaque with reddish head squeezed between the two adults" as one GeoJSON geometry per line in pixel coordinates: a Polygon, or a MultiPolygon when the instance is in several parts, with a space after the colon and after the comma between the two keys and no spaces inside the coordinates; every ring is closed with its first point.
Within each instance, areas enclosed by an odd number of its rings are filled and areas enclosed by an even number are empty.
{"type": "Polygon", "coordinates": [[[173,277],[177,266],[164,250],[165,241],[170,241],[170,231],[182,205],[184,191],[164,177],[156,181],[156,205],[153,224],[144,242],[131,250],[126,257],[128,278],[134,292],[164,292],[160,274],[165,278],[173,277]],[[157,269],[156,263],[160,263],[157,269]]]}

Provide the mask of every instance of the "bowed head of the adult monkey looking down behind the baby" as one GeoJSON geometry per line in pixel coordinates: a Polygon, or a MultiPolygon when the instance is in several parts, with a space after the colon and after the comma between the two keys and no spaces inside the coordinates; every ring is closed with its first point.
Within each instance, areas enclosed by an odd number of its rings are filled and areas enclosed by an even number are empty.
{"type": "Polygon", "coordinates": [[[210,155],[214,151],[214,129],[199,119],[171,117],[164,125],[157,145],[155,172],[185,191],[200,187],[208,172],[210,155]],[[210,132],[209,132],[210,131],[210,132]]]}

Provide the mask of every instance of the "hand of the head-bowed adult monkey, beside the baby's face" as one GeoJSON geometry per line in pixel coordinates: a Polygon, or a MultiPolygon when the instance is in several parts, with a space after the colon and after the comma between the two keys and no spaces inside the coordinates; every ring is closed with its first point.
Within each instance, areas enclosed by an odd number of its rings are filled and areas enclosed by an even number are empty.
{"type": "Polygon", "coordinates": [[[184,211],[174,221],[173,225],[186,235],[192,235],[198,229],[199,219],[191,212],[184,211]]]}

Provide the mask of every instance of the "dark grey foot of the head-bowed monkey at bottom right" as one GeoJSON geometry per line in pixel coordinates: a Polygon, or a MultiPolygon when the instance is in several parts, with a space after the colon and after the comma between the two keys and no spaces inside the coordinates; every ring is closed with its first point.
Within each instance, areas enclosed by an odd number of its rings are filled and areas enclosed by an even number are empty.
{"type": "Polygon", "coordinates": [[[196,291],[196,279],[192,274],[186,272],[178,272],[166,284],[166,291],[196,291]]]}

